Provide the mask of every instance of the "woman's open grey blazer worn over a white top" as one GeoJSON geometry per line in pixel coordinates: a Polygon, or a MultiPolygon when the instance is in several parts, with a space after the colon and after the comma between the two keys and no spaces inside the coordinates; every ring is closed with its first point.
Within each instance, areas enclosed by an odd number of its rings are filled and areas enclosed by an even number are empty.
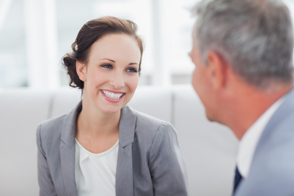
{"type": "MultiPolygon", "coordinates": [[[[37,129],[40,195],[77,196],[74,138],[81,108],[79,103],[37,129]]],[[[116,195],[188,195],[186,166],[170,123],[129,106],[121,109],[116,195]]]]}

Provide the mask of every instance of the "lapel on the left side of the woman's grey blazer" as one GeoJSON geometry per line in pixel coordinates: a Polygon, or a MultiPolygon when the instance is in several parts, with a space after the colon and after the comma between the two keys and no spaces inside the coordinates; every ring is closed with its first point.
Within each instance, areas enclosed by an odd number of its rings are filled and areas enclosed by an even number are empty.
{"type": "Polygon", "coordinates": [[[75,181],[75,133],[77,110],[81,110],[81,102],[64,118],[61,131],[60,161],[61,175],[67,196],[77,196],[75,181]]]}

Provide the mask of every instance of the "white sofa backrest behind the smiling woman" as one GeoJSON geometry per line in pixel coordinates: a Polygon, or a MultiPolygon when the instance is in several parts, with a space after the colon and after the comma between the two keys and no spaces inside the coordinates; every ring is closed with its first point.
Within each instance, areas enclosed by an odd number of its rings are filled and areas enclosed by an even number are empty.
{"type": "MultiPolygon", "coordinates": [[[[1,196],[39,194],[37,125],[69,112],[80,99],[77,89],[0,89],[1,196]]],[[[176,127],[191,196],[231,195],[238,140],[206,119],[191,85],[139,86],[129,105],[176,127]]]]}

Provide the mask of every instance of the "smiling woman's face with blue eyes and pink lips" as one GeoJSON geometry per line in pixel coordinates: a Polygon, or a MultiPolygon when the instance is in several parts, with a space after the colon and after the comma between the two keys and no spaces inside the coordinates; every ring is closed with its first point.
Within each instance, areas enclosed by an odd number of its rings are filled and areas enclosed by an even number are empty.
{"type": "Polygon", "coordinates": [[[140,59],[140,48],[131,36],[110,34],[93,43],[87,65],[80,68],[86,104],[104,113],[123,108],[138,86],[140,59]]]}

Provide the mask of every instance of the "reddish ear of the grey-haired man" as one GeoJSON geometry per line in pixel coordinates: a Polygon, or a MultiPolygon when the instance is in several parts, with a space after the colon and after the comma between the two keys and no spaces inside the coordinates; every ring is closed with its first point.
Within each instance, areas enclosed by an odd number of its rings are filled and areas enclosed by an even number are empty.
{"type": "Polygon", "coordinates": [[[207,53],[208,74],[214,89],[225,86],[228,63],[218,53],[208,51],[207,53]]]}

